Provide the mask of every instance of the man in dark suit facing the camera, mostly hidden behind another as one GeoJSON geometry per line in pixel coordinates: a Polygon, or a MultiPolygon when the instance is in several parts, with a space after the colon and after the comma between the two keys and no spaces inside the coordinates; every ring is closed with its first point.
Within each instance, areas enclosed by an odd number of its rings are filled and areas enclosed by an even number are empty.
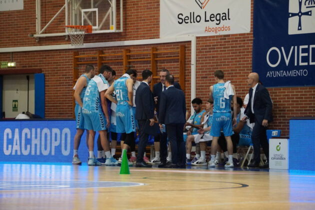
{"type": "MultiPolygon", "coordinates": [[[[159,72],[160,82],[153,85],[153,96],[155,99],[155,108],[157,115],[159,113],[159,102],[162,91],[166,89],[165,86],[165,77],[169,74],[167,69],[161,69],[159,72]]],[[[174,87],[181,89],[178,82],[174,81],[174,87]]],[[[167,156],[167,134],[165,132],[160,133],[158,136],[154,136],[154,149],[157,152],[160,152],[160,164],[159,167],[166,165],[166,156],[167,156]]],[[[156,152],[155,152],[156,153],[156,152]]],[[[156,155],[155,155],[156,158],[156,155]]],[[[156,158],[159,159],[159,158],[156,158]]]]}

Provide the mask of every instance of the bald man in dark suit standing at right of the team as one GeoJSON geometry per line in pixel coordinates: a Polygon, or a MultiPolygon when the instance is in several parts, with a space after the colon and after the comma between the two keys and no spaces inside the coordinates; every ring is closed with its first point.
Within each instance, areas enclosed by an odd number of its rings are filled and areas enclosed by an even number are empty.
{"type": "MultiPolygon", "coordinates": [[[[249,100],[247,107],[244,111],[245,116],[242,120],[249,118],[250,123],[254,122],[255,125],[252,129],[251,140],[254,150],[254,158],[248,167],[259,167],[260,162],[260,145],[263,149],[267,159],[269,158],[269,143],[267,140],[266,129],[268,122],[272,119],[272,101],[268,90],[259,84],[259,76],[257,73],[249,73],[247,83],[249,88],[249,100]]],[[[261,167],[268,167],[265,164],[261,167]]]]}

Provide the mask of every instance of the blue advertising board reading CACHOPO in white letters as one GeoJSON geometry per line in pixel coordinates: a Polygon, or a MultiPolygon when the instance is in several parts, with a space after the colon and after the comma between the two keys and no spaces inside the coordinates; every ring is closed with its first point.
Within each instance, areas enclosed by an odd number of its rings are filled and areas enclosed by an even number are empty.
{"type": "MultiPolygon", "coordinates": [[[[71,162],[75,133],[75,120],[0,121],[0,161],[71,162]]],[[[85,133],[78,149],[82,162],[88,157],[85,133]]]]}

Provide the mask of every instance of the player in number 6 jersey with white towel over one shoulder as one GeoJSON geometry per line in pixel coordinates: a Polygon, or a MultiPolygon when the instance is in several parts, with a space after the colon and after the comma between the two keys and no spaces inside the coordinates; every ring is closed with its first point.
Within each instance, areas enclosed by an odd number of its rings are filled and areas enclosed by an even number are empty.
{"type": "Polygon", "coordinates": [[[227,151],[228,161],[224,167],[233,167],[233,144],[231,140],[232,135],[232,122],[236,123],[236,112],[233,113],[233,120],[231,119],[230,101],[233,98],[233,108],[236,110],[236,93],[234,85],[229,81],[224,82],[224,73],[221,70],[214,72],[214,78],[216,84],[210,86],[210,98],[213,98],[213,119],[210,135],[213,136],[211,143],[211,160],[208,163],[209,167],[215,167],[215,152],[217,149],[217,141],[220,136],[221,130],[223,130],[227,151]]]}

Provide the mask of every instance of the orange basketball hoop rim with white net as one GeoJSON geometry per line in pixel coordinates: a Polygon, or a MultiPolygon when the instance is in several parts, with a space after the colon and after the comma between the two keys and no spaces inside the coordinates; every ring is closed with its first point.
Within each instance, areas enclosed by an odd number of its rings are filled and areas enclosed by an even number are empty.
{"type": "Polygon", "coordinates": [[[70,36],[72,46],[83,45],[84,34],[92,32],[91,25],[65,25],[65,28],[70,36]]]}

